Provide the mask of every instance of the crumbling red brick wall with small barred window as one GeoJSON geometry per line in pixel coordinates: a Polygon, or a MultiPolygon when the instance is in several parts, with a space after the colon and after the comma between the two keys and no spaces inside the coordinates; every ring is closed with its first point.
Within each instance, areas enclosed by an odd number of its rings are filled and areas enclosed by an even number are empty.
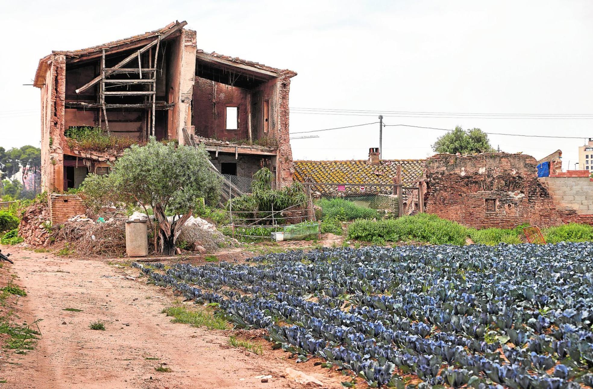
{"type": "Polygon", "coordinates": [[[426,212],[476,228],[561,224],[536,166],[528,155],[437,154],[426,160],[426,212]],[[495,212],[487,212],[492,201],[495,212]]]}

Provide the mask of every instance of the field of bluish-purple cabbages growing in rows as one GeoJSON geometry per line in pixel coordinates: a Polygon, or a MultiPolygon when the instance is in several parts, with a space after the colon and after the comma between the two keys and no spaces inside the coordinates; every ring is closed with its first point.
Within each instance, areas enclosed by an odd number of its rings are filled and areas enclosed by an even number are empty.
{"type": "MultiPolygon", "coordinates": [[[[135,263],[371,387],[593,386],[593,243],[324,248],[135,263]]],[[[344,382],[344,385],[351,385],[344,382]]]]}

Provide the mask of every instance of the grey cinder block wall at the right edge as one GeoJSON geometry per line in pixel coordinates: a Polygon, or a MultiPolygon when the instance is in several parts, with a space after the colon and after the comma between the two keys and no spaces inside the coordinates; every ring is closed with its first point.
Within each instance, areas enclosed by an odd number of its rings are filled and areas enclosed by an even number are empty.
{"type": "Polygon", "coordinates": [[[593,181],[588,177],[541,177],[539,180],[549,185],[557,209],[593,215],[593,181]]]}

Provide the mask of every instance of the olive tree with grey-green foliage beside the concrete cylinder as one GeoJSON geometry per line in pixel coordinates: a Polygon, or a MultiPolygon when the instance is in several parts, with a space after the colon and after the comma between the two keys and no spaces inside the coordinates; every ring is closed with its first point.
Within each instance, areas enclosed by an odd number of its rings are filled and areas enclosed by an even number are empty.
{"type": "Polygon", "coordinates": [[[135,144],[126,149],[112,166],[109,178],[88,177],[82,188],[104,193],[111,187],[113,200],[152,208],[158,251],[173,255],[181,227],[192,216],[197,201],[218,200],[221,183],[209,165],[203,146],[163,144],[151,137],[145,146],[135,144]],[[95,188],[97,185],[103,188],[95,188]],[[173,220],[167,220],[167,214],[173,215],[173,220]]]}

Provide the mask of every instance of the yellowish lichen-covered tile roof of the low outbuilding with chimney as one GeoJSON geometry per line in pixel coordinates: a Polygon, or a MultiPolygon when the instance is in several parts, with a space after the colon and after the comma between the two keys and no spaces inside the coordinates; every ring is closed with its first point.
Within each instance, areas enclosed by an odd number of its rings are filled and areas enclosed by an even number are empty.
{"type": "Polygon", "coordinates": [[[401,165],[404,186],[415,186],[425,173],[423,159],[388,159],[378,165],[368,165],[366,160],[296,160],[293,178],[323,184],[392,185],[397,165],[401,165]]]}

